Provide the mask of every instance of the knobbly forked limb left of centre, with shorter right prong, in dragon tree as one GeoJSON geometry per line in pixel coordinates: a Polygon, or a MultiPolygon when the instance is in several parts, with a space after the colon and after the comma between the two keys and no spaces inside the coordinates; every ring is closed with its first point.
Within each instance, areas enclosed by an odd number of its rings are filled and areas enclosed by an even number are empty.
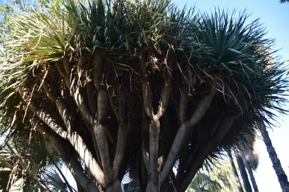
{"type": "MultiPolygon", "coordinates": [[[[108,93],[107,88],[103,84],[103,73],[105,72],[105,64],[103,59],[96,55],[93,62],[94,86],[98,91],[97,99],[97,121],[94,120],[94,135],[98,144],[100,152],[101,163],[105,175],[105,183],[107,191],[121,191],[120,181],[118,180],[118,173],[122,164],[122,159],[125,154],[125,144],[127,142],[127,125],[125,122],[125,98],[119,99],[119,112],[116,113],[118,117],[118,141],[116,144],[116,154],[114,156],[113,168],[111,169],[109,160],[109,146],[107,141],[107,134],[104,126],[105,119],[107,119],[108,111],[108,93]]],[[[121,92],[121,91],[120,91],[121,92]]],[[[114,106],[113,106],[114,108],[114,106]]],[[[95,117],[96,118],[96,117],[95,117]]]]}

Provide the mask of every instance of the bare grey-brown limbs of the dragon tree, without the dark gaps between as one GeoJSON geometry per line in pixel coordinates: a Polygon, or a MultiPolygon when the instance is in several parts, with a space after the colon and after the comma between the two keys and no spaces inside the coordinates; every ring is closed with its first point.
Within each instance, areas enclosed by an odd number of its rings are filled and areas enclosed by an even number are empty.
{"type": "MultiPolygon", "coordinates": [[[[202,119],[208,119],[207,116],[211,115],[209,109],[217,94],[217,88],[216,86],[212,86],[211,89],[208,89],[208,93],[204,93],[200,99],[196,99],[193,104],[193,110],[188,110],[189,113],[186,114],[190,95],[189,84],[181,83],[178,85],[180,86],[178,88],[180,89],[178,90],[180,91],[180,98],[174,98],[178,102],[178,107],[175,108],[178,118],[175,119],[178,119],[179,122],[175,123],[175,128],[171,128],[173,125],[168,123],[168,121],[164,122],[164,115],[167,110],[171,110],[172,108],[170,106],[170,101],[173,99],[171,98],[172,77],[170,71],[174,69],[174,53],[173,51],[168,51],[168,56],[165,60],[167,70],[163,72],[164,81],[162,82],[163,86],[160,93],[156,91],[153,85],[154,82],[151,81],[151,75],[147,73],[147,67],[153,64],[148,59],[147,54],[149,53],[144,51],[140,58],[142,84],[140,106],[142,106],[142,122],[139,124],[142,124],[142,141],[139,144],[142,145],[143,162],[141,168],[143,173],[139,175],[142,176],[144,185],[141,189],[142,191],[157,192],[164,188],[164,184],[167,184],[168,188],[172,184],[171,189],[173,191],[182,192],[186,190],[197,170],[202,167],[202,163],[206,157],[220,144],[235,119],[239,118],[242,112],[241,110],[229,110],[228,114],[224,116],[220,115],[220,117],[217,116],[217,121],[210,123],[213,128],[204,133],[204,131],[197,128],[202,124],[200,122],[202,119]],[[158,95],[158,99],[153,98],[156,95],[158,95]],[[158,104],[156,104],[156,101],[158,101],[158,104]],[[162,126],[166,123],[169,126],[166,127],[166,130],[162,130],[162,126]],[[163,131],[176,133],[171,134],[173,135],[171,136],[172,145],[168,147],[166,154],[159,151],[161,147],[167,144],[160,143],[162,141],[160,139],[164,136],[163,131]],[[191,138],[193,132],[197,133],[196,139],[191,138]],[[187,138],[188,142],[185,142],[187,138]],[[192,143],[189,142],[189,139],[191,139],[192,143]],[[184,143],[186,143],[186,146],[184,146],[184,143]],[[189,150],[190,145],[193,147],[191,151],[193,153],[186,160],[184,154],[186,150],[189,150]],[[182,174],[179,173],[180,179],[178,180],[174,174],[171,176],[171,172],[175,161],[180,157],[181,149],[185,150],[181,155],[180,164],[182,166],[179,168],[182,169],[182,174]]],[[[58,147],[56,150],[63,156],[67,164],[70,163],[69,170],[74,171],[73,175],[76,181],[78,184],[81,184],[84,190],[98,191],[97,188],[99,187],[100,191],[120,192],[122,172],[127,169],[123,162],[126,158],[128,141],[131,139],[129,135],[131,134],[130,132],[135,131],[129,123],[131,123],[130,121],[133,116],[134,118],[139,117],[138,114],[127,117],[128,108],[133,107],[131,104],[127,104],[127,100],[131,99],[131,95],[128,94],[129,91],[127,89],[119,84],[116,91],[116,89],[112,90],[108,84],[104,84],[104,62],[105,60],[101,56],[95,56],[92,63],[93,74],[89,77],[93,78],[93,83],[88,82],[87,88],[81,88],[81,86],[78,86],[74,82],[74,73],[72,73],[74,71],[72,68],[73,62],[69,61],[68,58],[63,58],[65,71],[60,72],[62,67],[59,66],[57,69],[63,76],[63,80],[65,80],[66,94],[72,96],[69,101],[66,100],[66,96],[57,92],[53,93],[51,91],[53,84],[50,85],[48,80],[39,76],[43,90],[52,103],[55,104],[56,110],[58,110],[58,119],[55,119],[54,115],[51,115],[52,112],[48,108],[47,110],[41,108],[36,99],[30,98],[26,88],[22,88],[20,93],[26,104],[28,104],[28,108],[39,118],[37,120],[43,121],[47,125],[49,130],[45,132],[53,132],[50,139],[54,139],[54,137],[58,139],[57,142],[53,141],[56,148],[58,147]],[[116,91],[116,94],[114,91],[116,91]],[[75,105],[70,106],[70,102],[74,102],[75,105]],[[79,117],[78,113],[74,114],[73,110],[75,109],[78,110],[79,117]],[[109,112],[111,112],[111,115],[109,115],[109,112]],[[76,123],[78,119],[76,117],[83,119],[81,123],[85,124],[87,129],[82,130],[78,128],[79,125],[76,123]],[[110,128],[107,125],[109,119],[115,121],[115,128],[110,128]],[[87,139],[86,133],[91,134],[92,138],[87,139]],[[91,141],[89,142],[89,140],[91,141]],[[76,164],[77,159],[73,154],[66,152],[63,146],[57,146],[60,145],[61,141],[69,143],[72,149],[77,152],[87,169],[92,173],[92,178],[83,172],[83,167],[78,165],[79,163],[76,164]],[[71,165],[71,163],[75,163],[75,165],[71,165]],[[75,167],[77,170],[74,170],[76,169],[75,167]],[[87,187],[84,181],[90,184],[90,186],[87,187]]],[[[92,79],[89,80],[91,81],[92,79]]],[[[131,163],[129,171],[135,169],[133,165],[131,163]]]]}

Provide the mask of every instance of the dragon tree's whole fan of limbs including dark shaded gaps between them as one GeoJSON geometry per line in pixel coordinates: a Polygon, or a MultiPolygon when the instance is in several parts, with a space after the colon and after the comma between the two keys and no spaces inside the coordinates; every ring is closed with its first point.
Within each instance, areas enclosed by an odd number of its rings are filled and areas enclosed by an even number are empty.
{"type": "Polygon", "coordinates": [[[37,75],[43,91],[39,97],[30,95],[29,86],[19,90],[37,130],[52,140],[80,189],[121,191],[120,183],[129,175],[140,191],[185,191],[242,115],[239,108],[218,103],[222,75],[206,84],[205,91],[195,84],[200,92],[193,96],[192,85],[180,78],[183,72],[173,49],[160,60],[162,70],[157,72],[156,60],[144,50],[137,60],[140,74],[114,76],[107,60],[96,53],[85,65],[92,70],[83,84],[78,73],[85,67],[64,57],[54,63],[54,80],[37,75]],[[57,89],[56,82],[63,88],[57,89]],[[40,104],[41,97],[47,104],[40,104]],[[217,108],[222,112],[213,115],[217,108]],[[84,170],[76,157],[83,160],[84,170]]]}

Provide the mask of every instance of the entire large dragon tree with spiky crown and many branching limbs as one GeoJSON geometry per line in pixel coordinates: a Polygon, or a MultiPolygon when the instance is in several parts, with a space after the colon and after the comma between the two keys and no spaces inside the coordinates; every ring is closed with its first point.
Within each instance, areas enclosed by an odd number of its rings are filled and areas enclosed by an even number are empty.
{"type": "Polygon", "coordinates": [[[245,12],[37,5],[2,23],[2,131],[37,130],[86,191],[121,191],[127,173],[141,191],[185,191],[204,162],[273,119],[268,109],[286,112],[273,40],[245,12]]]}

